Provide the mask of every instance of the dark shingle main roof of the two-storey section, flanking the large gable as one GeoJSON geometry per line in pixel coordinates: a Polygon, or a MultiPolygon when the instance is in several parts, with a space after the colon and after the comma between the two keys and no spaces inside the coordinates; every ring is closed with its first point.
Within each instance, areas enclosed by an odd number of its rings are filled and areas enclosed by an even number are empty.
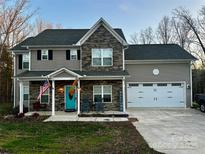
{"type": "MultiPolygon", "coordinates": [[[[122,29],[114,29],[124,40],[122,29]]],[[[76,44],[89,29],[46,29],[35,37],[27,38],[12,50],[21,50],[22,45],[73,45],[76,44]]]]}

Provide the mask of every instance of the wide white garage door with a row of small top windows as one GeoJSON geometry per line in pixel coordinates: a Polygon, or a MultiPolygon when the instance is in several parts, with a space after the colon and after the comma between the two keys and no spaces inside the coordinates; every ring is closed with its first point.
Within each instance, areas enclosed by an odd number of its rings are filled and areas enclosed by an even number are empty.
{"type": "Polygon", "coordinates": [[[184,107],[183,83],[128,83],[128,107],[184,107]]]}

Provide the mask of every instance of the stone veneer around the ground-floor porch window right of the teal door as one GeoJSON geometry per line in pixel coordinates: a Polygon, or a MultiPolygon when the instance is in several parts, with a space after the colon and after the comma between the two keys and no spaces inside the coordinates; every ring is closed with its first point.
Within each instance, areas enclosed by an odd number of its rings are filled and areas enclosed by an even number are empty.
{"type": "Polygon", "coordinates": [[[122,90],[121,80],[82,80],[81,81],[81,103],[84,98],[88,98],[90,102],[90,111],[93,110],[93,85],[112,85],[112,103],[105,103],[105,111],[119,111],[119,96],[118,93],[122,90]]]}

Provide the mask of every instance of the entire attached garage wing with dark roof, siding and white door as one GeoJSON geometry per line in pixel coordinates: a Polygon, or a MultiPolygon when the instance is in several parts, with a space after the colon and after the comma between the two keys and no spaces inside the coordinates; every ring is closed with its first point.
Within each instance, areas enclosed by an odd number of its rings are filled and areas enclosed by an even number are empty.
{"type": "Polygon", "coordinates": [[[193,60],[176,44],[129,45],[125,50],[127,107],[190,107],[193,60]]]}

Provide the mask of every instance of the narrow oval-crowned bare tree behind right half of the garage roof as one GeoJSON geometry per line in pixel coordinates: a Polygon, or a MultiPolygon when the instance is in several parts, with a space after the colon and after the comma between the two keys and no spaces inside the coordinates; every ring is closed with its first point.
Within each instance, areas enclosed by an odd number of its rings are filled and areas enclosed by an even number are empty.
{"type": "Polygon", "coordinates": [[[157,28],[157,39],[159,43],[168,44],[172,42],[173,28],[168,16],[164,16],[157,28]]]}

